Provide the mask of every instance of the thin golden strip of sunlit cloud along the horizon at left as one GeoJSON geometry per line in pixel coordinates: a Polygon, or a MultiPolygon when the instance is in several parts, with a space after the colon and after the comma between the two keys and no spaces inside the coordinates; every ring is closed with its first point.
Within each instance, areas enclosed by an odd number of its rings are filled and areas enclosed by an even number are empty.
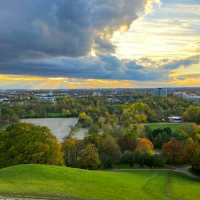
{"type": "Polygon", "coordinates": [[[0,75],[0,89],[133,88],[134,81],[0,75]]]}

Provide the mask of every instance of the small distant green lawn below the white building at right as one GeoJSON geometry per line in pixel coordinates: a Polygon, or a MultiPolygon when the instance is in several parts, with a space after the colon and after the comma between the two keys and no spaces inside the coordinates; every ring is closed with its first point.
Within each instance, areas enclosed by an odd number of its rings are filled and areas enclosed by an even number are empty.
{"type": "Polygon", "coordinates": [[[145,126],[148,126],[152,130],[158,129],[158,128],[171,128],[173,131],[179,131],[183,128],[190,128],[194,125],[194,123],[148,123],[145,124],[145,126]]]}

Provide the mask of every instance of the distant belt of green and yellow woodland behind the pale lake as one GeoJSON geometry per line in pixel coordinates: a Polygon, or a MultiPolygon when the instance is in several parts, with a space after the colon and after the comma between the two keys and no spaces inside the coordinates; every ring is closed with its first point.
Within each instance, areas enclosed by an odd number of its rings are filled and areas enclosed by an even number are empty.
{"type": "Polygon", "coordinates": [[[200,106],[192,104],[187,110],[191,104],[175,96],[147,97],[141,95],[134,97],[132,103],[129,104],[110,104],[106,96],[85,98],[66,96],[56,99],[55,102],[42,102],[32,98],[23,103],[0,104],[0,125],[17,122],[20,118],[80,117],[83,118],[80,120],[82,126],[91,126],[102,118],[107,120],[108,117],[116,118],[123,123],[129,123],[131,120],[133,123],[135,120],[137,122],[167,120],[170,115],[183,115],[186,121],[200,123],[200,106]],[[138,103],[137,106],[133,105],[136,103],[138,103]],[[137,107],[136,110],[135,107],[137,107]],[[194,112],[197,110],[198,112],[194,112]],[[123,117],[121,117],[122,114],[123,117]]]}

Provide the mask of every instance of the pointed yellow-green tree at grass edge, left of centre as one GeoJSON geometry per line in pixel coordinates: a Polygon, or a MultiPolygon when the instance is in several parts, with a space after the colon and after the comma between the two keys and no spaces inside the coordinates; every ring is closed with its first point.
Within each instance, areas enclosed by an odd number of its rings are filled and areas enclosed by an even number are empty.
{"type": "Polygon", "coordinates": [[[88,144],[80,153],[79,165],[83,169],[97,169],[101,162],[97,148],[93,144],[88,144]]]}

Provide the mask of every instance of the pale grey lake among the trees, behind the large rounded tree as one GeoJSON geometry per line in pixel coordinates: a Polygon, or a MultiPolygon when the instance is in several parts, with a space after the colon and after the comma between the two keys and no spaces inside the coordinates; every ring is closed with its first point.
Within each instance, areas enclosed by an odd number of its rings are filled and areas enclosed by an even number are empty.
{"type": "MultiPolygon", "coordinates": [[[[71,132],[71,128],[78,123],[78,118],[33,118],[21,119],[21,122],[31,123],[38,126],[46,126],[59,139],[63,140],[71,132]]],[[[79,129],[74,133],[77,139],[83,139],[87,134],[87,129],[79,129]]]]}

